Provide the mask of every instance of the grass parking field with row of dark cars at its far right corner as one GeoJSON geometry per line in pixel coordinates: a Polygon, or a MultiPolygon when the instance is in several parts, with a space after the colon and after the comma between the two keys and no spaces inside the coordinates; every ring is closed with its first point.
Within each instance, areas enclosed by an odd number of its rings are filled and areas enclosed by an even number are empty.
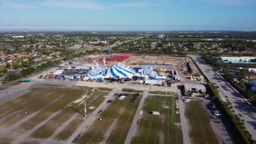
{"type": "Polygon", "coordinates": [[[104,141],[103,143],[123,144],[141,97],[140,95],[137,101],[132,103],[130,102],[132,96],[133,94],[128,94],[124,100],[115,99],[102,112],[102,120],[95,121],[93,126],[81,137],[79,143],[99,143],[104,141]],[[110,131],[110,136],[104,136],[113,121],[116,121],[116,123],[110,131]]]}

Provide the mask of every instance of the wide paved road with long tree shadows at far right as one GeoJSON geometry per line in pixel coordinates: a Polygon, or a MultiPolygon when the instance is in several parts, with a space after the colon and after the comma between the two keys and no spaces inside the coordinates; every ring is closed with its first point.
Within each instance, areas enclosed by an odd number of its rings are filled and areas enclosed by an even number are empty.
{"type": "Polygon", "coordinates": [[[248,107],[248,104],[243,96],[235,90],[223,77],[217,75],[213,68],[209,67],[201,56],[190,56],[200,69],[203,71],[203,74],[208,77],[211,82],[216,83],[219,86],[219,95],[221,99],[225,101],[225,96],[228,96],[229,101],[232,103],[233,109],[236,114],[243,115],[245,120],[245,127],[251,133],[252,139],[256,140],[256,113],[251,107],[248,107]]]}

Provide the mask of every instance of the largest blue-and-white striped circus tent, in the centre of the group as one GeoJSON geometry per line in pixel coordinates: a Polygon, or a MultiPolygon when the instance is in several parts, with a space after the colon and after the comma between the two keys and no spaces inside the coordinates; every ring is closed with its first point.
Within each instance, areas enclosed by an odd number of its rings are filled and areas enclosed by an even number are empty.
{"type": "Polygon", "coordinates": [[[110,78],[132,78],[134,74],[133,69],[121,64],[115,64],[105,71],[105,75],[109,75],[110,78]]]}

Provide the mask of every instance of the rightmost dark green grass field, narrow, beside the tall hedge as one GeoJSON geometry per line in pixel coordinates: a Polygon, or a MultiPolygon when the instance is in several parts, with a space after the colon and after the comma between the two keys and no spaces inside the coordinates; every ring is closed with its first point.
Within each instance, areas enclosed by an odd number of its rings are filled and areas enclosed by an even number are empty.
{"type": "Polygon", "coordinates": [[[187,104],[186,117],[189,120],[189,136],[195,144],[218,144],[217,138],[211,129],[209,118],[199,101],[187,104]]]}

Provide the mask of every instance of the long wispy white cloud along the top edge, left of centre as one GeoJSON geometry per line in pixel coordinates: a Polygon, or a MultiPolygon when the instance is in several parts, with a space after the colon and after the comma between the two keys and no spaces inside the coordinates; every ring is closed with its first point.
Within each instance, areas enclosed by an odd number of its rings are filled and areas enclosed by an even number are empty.
{"type": "Polygon", "coordinates": [[[102,10],[107,8],[99,3],[89,2],[88,0],[43,0],[39,3],[45,7],[81,8],[90,10],[102,10]]]}

